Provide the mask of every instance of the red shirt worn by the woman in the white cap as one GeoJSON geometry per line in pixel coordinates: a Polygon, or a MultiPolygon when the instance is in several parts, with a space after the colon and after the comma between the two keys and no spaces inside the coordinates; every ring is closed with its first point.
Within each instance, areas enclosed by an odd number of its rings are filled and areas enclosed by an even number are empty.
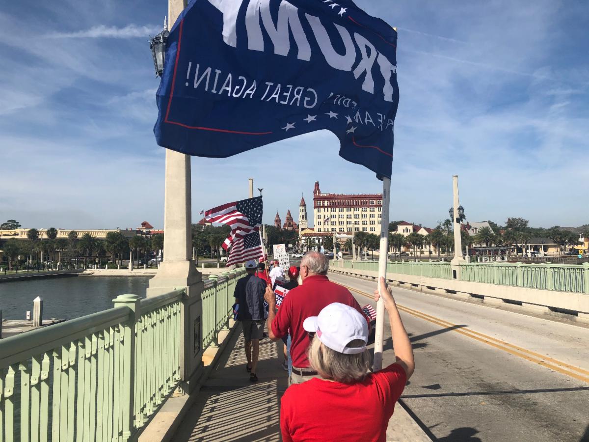
{"type": "Polygon", "coordinates": [[[385,441],[386,428],[407,375],[399,364],[342,384],[313,378],[287,388],[280,431],[287,441],[385,441]]]}

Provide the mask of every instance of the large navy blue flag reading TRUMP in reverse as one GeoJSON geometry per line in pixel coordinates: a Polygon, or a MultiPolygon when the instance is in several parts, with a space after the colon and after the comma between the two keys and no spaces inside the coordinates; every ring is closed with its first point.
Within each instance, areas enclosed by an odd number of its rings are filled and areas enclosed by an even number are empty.
{"type": "Polygon", "coordinates": [[[327,129],[391,177],[396,39],[350,0],[193,0],[168,37],[157,143],[223,158],[327,129]]]}

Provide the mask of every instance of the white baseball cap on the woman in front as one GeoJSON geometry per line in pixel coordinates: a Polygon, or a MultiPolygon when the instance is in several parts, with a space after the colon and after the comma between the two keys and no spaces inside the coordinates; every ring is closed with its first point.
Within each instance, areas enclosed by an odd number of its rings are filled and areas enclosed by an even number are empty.
{"type": "Polygon", "coordinates": [[[347,355],[362,353],[368,341],[368,322],[358,310],[349,305],[334,302],[327,305],[317,316],[303,322],[303,328],[316,333],[326,347],[347,355]],[[362,347],[346,347],[351,341],[362,339],[362,347]]]}

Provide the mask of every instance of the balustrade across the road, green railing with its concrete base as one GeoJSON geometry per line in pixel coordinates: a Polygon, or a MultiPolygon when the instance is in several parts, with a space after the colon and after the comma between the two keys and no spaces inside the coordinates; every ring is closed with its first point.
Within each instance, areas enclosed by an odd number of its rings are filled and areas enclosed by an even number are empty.
{"type": "MultiPolygon", "coordinates": [[[[376,279],[378,263],[336,262],[330,271],[376,279]]],[[[537,312],[560,312],[589,322],[589,263],[582,265],[464,263],[452,279],[449,263],[389,263],[387,278],[403,286],[511,304],[537,312]]]]}

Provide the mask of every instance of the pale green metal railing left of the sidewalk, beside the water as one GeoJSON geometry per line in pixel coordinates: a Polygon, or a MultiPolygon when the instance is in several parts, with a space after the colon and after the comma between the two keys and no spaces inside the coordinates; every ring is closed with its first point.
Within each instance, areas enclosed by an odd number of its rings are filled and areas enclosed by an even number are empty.
{"type": "MultiPolygon", "coordinates": [[[[236,277],[204,283],[203,349],[226,328],[236,277]]],[[[218,279],[218,280],[217,280],[218,279]]],[[[180,381],[184,289],[0,341],[0,442],[128,441],[180,381]]]]}

